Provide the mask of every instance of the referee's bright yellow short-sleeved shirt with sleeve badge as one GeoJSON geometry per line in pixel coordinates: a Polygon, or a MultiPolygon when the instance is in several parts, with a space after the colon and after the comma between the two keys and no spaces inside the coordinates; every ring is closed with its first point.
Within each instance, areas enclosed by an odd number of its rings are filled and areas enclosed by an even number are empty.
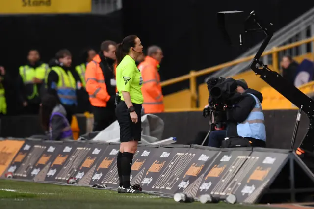
{"type": "Polygon", "coordinates": [[[122,91],[126,91],[130,93],[132,103],[143,104],[143,78],[131,56],[126,55],[117,66],[116,81],[121,100],[124,101],[122,91]]]}

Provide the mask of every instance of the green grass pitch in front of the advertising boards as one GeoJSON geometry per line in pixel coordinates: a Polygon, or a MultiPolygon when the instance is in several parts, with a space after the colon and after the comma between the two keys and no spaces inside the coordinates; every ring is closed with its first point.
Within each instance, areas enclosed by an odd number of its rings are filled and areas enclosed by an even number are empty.
{"type": "MultiPolygon", "coordinates": [[[[253,209],[256,206],[177,203],[146,194],[118,194],[90,187],[0,180],[0,209],[253,209]]],[[[271,209],[270,207],[267,207],[271,209]]]]}

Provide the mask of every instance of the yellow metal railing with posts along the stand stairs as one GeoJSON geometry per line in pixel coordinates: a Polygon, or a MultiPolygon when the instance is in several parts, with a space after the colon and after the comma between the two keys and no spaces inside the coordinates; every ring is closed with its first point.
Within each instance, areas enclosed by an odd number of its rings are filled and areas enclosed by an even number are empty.
{"type": "MultiPolygon", "coordinates": [[[[298,41],[298,42],[295,42],[295,43],[292,43],[292,44],[288,44],[288,45],[285,45],[285,46],[282,46],[282,47],[273,47],[271,50],[264,52],[262,54],[262,56],[272,54],[272,62],[273,62],[272,63],[272,66],[273,66],[272,70],[279,72],[279,69],[278,69],[278,66],[279,66],[278,52],[284,51],[284,50],[288,50],[288,49],[291,49],[291,48],[294,48],[294,47],[298,47],[298,46],[300,46],[302,44],[307,44],[307,43],[310,43],[310,42],[314,43],[314,37],[309,38],[309,39],[305,39],[305,40],[302,40],[302,41],[298,41]]],[[[312,53],[313,53],[313,57],[314,57],[314,50],[312,51],[312,53]]],[[[220,65],[214,66],[214,67],[210,67],[210,68],[207,68],[207,69],[204,69],[204,70],[200,70],[200,71],[192,70],[187,75],[183,75],[183,76],[180,76],[180,77],[177,77],[177,78],[173,78],[173,79],[169,79],[169,80],[161,82],[161,86],[168,86],[168,85],[172,85],[172,84],[175,84],[175,83],[178,83],[178,82],[182,82],[184,80],[189,80],[190,81],[190,97],[191,97],[191,101],[192,101],[191,108],[192,109],[193,108],[198,109],[197,105],[196,105],[197,104],[197,99],[198,99],[197,82],[196,82],[196,78],[197,77],[203,76],[203,75],[206,75],[206,74],[209,74],[209,73],[213,73],[215,71],[218,71],[218,70],[226,68],[226,67],[231,67],[233,65],[237,65],[237,64],[239,64],[241,62],[250,61],[250,60],[252,60],[254,58],[254,56],[255,55],[244,57],[244,58],[241,58],[241,59],[236,59],[236,60],[233,60],[233,61],[230,61],[230,62],[226,62],[226,63],[220,64],[220,65]]]]}

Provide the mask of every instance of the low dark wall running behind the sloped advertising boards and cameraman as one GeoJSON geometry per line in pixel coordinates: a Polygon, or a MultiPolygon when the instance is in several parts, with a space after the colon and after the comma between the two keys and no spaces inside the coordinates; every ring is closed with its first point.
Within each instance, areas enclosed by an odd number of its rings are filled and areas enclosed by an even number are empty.
{"type": "MultiPolygon", "coordinates": [[[[209,118],[204,118],[202,112],[174,112],[156,115],[164,122],[163,138],[177,137],[176,144],[193,144],[199,132],[209,130],[209,118]]],[[[267,147],[289,149],[297,110],[266,110],[264,115],[267,147]]],[[[85,116],[77,116],[77,119],[79,135],[83,135],[86,133],[87,119],[85,116]]],[[[302,114],[295,148],[300,145],[307,131],[308,123],[307,116],[302,114]]],[[[22,115],[1,118],[0,137],[26,138],[37,134],[44,134],[38,116],[22,115]]]]}

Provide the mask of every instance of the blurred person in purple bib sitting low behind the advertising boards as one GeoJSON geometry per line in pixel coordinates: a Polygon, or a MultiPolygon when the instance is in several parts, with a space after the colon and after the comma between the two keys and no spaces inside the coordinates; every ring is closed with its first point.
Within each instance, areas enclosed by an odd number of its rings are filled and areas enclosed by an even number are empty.
{"type": "Polygon", "coordinates": [[[73,136],[66,111],[54,95],[45,95],[40,105],[41,125],[49,140],[65,140],[73,136]]]}

